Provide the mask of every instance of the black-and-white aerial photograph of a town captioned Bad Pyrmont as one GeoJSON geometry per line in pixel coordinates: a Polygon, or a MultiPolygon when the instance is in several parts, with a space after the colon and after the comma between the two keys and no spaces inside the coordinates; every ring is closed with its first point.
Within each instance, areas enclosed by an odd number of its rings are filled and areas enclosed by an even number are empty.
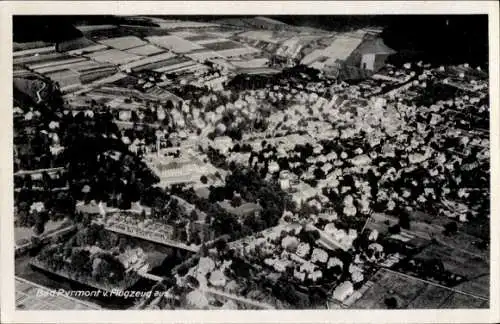
{"type": "Polygon", "coordinates": [[[488,15],[12,24],[16,310],[490,308],[488,15]]]}

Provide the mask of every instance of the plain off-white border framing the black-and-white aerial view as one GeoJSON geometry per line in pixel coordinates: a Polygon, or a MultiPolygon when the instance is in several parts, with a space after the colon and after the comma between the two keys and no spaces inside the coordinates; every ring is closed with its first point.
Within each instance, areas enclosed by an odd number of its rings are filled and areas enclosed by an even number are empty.
{"type": "Polygon", "coordinates": [[[499,10],[496,1],[16,1],[0,3],[0,224],[2,323],[499,323],[499,10]],[[12,15],[40,14],[488,14],[491,98],[491,289],[489,310],[15,311],[12,228],[12,15]],[[3,118],[2,118],[3,117],[3,118]]]}

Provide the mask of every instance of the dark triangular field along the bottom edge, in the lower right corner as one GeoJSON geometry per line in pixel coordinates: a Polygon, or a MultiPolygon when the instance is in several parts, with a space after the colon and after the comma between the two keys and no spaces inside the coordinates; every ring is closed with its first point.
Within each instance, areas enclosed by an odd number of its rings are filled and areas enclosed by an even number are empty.
{"type": "Polygon", "coordinates": [[[351,308],[387,308],[386,298],[394,297],[398,308],[480,308],[488,301],[456,292],[442,286],[396,273],[379,270],[367,284],[370,286],[351,308]]]}

